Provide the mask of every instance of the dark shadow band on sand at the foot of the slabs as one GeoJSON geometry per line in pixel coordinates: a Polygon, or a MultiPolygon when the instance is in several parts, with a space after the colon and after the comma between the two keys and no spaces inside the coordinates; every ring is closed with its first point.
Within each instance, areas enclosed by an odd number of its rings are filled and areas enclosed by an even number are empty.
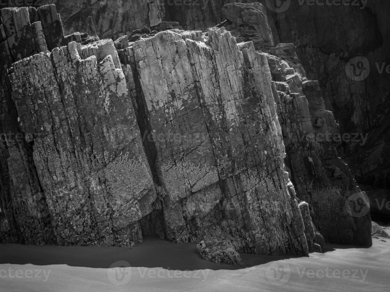
{"type": "MultiPolygon", "coordinates": [[[[0,264],[39,266],[67,264],[75,267],[108,268],[119,260],[125,260],[132,267],[163,267],[182,271],[239,269],[202,260],[195,250],[196,243],[177,244],[155,237],[146,237],[143,243],[133,248],[2,244],[0,245],[0,264]]],[[[300,256],[241,254],[246,267],[298,257],[300,256]]]]}

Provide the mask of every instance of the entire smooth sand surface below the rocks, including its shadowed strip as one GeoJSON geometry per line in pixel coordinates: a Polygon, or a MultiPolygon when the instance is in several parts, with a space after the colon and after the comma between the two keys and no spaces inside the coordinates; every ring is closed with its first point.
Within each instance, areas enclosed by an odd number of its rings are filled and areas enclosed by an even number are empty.
{"type": "Polygon", "coordinates": [[[327,250],[242,255],[246,268],[237,269],[201,260],[193,243],[152,238],[134,248],[0,245],[0,291],[390,292],[390,240],[327,250]]]}

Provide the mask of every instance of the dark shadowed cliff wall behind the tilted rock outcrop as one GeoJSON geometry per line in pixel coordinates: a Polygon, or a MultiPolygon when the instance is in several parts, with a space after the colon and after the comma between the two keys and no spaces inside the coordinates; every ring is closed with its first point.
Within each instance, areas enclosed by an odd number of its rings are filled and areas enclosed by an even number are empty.
{"type": "MultiPolygon", "coordinates": [[[[311,5],[307,1],[286,1],[282,2],[281,9],[275,9],[271,0],[237,1],[251,4],[252,9],[243,9],[233,2],[145,0],[129,4],[107,0],[76,4],[74,0],[67,0],[53,3],[63,15],[66,33],[83,30],[90,35],[115,38],[164,20],[177,21],[192,30],[206,29],[229,19],[233,23],[225,26],[232,28],[232,35],[239,41],[253,40],[256,49],[260,49],[257,47],[259,35],[267,33],[262,27],[264,22],[259,22],[264,15],[259,18],[259,14],[254,13],[257,4],[252,4],[261,3],[266,8],[271,28],[264,42],[270,43],[273,39],[273,46],[280,42],[295,44],[308,79],[319,81],[326,109],[335,114],[341,137],[344,134],[347,137],[337,149],[339,156],[344,157],[358,182],[366,185],[365,190],[388,190],[389,2],[311,5]],[[225,4],[232,5],[224,7],[225,4]],[[369,65],[369,74],[355,81],[346,73],[346,67],[356,67],[360,60],[369,65]]],[[[46,4],[44,0],[36,3],[46,4]]],[[[358,70],[356,74],[362,72],[358,70]]]]}

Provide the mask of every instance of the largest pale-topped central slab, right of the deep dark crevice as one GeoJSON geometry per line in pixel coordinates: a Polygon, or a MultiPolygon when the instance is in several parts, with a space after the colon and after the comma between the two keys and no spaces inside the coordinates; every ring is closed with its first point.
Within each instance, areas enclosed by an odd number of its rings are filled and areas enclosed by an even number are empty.
{"type": "Polygon", "coordinates": [[[227,238],[239,252],[258,254],[304,252],[266,57],[252,43],[241,50],[223,28],[205,36],[160,32],[119,55],[129,88],[139,86],[135,106],[150,131],[143,136],[153,137],[146,153],[165,190],[167,238],[227,238]]]}

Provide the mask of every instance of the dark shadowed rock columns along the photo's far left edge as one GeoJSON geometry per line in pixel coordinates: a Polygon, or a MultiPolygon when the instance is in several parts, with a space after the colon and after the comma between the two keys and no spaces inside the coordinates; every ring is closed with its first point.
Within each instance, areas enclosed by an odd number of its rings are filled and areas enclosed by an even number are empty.
{"type": "Polygon", "coordinates": [[[36,217],[27,218],[13,205],[14,200],[31,197],[42,189],[32,162],[31,145],[25,139],[27,133],[18,126],[6,69],[12,62],[64,44],[62,23],[55,5],[1,9],[0,15],[0,129],[4,133],[0,143],[0,216],[2,230],[6,230],[2,237],[12,242],[52,243],[55,239],[46,224],[36,217]],[[13,158],[16,156],[18,159],[13,158]]]}

